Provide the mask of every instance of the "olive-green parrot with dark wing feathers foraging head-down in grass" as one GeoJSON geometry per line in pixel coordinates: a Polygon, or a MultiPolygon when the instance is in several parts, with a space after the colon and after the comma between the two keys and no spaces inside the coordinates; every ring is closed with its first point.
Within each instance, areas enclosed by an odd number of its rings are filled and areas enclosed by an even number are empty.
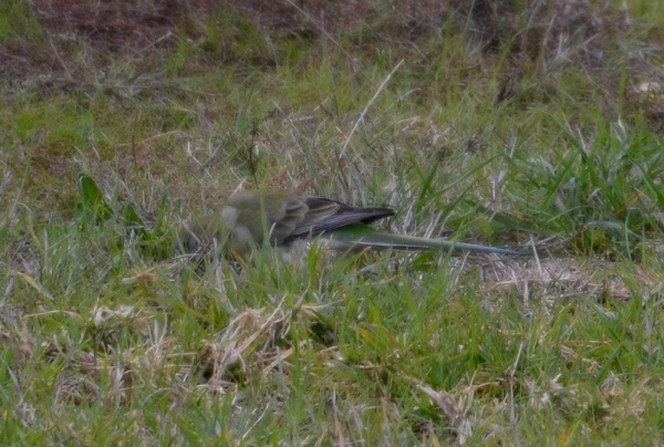
{"type": "Polygon", "coordinates": [[[200,256],[214,247],[221,247],[240,259],[249,258],[256,248],[264,243],[288,247],[308,238],[325,242],[334,251],[456,249],[525,254],[521,251],[447,239],[382,232],[369,226],[394,215],[394,209],[388,207],[353,207],[294,189],[246,190],[230,197],[220,211],[185,222],[177,245],[185,254],[200,256]]]}

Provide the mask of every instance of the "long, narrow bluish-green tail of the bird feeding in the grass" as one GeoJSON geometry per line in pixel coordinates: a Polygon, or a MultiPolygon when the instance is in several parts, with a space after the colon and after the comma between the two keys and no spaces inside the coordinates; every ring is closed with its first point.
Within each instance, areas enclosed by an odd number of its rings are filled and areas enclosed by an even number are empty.
{"type": "Polygon", "coordinates": [[[393,235],[388,232],[380,232],[367,229],[369,227],[355,227],[343,231],[332,231],[323,235],[325,239],[332,243],[335,250],[347,249],[394,249],[409,251],[426,251],[426,250],[470,250],[486,253],[499,253],[522,256],[528,254],[523,251],[509,250],[498,247],[477,246],[474,243],[456,242],[447,239],[426,239],[415,236],[393,235]]]}

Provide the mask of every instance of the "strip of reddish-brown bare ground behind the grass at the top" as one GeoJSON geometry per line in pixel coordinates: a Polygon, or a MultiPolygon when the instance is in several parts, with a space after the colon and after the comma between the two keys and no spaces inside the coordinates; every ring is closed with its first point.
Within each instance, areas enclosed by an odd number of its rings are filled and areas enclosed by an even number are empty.
{"type": "MultiPolygon", "coordinates": [[[[270,37],[300,35],[333,39],[352,34],[361,27],[374,30],[391,43],[417,44],[432,32],[453,23],[455,32],[480,41],[484,51],[505,49],[535,60],[543,55],[547,67],[559,63],[600,65],[612,45],[633,28],[626,9],[608,2],[594,6],[582,0],[533,1],[527,8],[512,2],[408,0],[385,6],[378,1],[329,2],[310,0],[129,0],[89,2],[83,0],[35,0],[34,14],[56,45],[84,39],[93,49],[114,53],[145,52],[173,45],[176,33],[200,38],[212,14],[239,13],[270,37]]],[[[29,45],[29,44],[28,44],[29,45]]],[[[34,60],[25,45],[4,48],[14,62],[34,60]]],[[[53,48],[43,49],[51,53],[53,48]]],[[[149,54],[144,54],[149,56],[149,54]]],[[[54,63],[55,62],[55,63],[54,63]]],[[[42,61],[43,63],[43,61],[42,61]]],[[[8,64],[3,64],[3,71],[8,64]]],[[[23,71],[24,74],[27,74],[23,71]]],[[[13,75],[20,75],[18,70],[13,75]]]]}

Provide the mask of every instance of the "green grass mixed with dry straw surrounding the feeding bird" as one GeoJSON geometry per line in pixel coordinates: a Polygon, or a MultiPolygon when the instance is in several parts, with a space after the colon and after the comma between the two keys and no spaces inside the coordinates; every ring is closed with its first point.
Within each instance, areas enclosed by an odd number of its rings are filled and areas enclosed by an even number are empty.
{"type": "Polygon", "coordinates": [[[229,10],[154,54],[0,21],[60,51],[1,85],[0,441],[661,444],[662,6],[590,8],[567,41],[516,6],[328,35],[229,10]],[[174,257],[239,185],[533,256],[174,257]]]}

